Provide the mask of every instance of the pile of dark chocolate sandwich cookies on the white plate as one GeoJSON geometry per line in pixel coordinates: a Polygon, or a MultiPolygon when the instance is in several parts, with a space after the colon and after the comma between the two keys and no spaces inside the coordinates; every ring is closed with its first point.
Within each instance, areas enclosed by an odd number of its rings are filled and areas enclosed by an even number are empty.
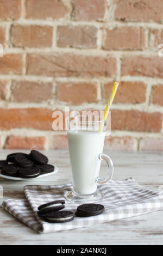
{"type": "Polygon", "coordinates": [[[36,178],[40,174],[51,173],[54,166],[48,164],[47,156],[37,150],[31,150],[30,154],[12,153],[6,160],[0,161],[1,174],[25,179],[36,178]]]}

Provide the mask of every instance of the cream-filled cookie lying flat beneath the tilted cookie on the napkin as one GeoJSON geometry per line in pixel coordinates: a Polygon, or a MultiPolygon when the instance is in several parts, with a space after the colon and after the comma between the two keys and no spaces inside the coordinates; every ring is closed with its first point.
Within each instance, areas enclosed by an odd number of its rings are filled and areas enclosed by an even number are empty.
{"type": "Polygon", "coordinates": [[[62,223],[72,221],[74,218],[72,211],[51,211],[45,215],[45,221],[51,223],[62,223]]]}

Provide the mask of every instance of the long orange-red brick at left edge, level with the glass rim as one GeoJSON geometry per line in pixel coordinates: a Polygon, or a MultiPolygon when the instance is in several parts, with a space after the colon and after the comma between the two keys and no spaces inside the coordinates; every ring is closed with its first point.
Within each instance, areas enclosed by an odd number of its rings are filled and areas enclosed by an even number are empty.
{"type": "Polygon", "coordinates": [[[52,130],[53,111],[44,108],[0,109],[0,129],[34,128],[52,130]]]}

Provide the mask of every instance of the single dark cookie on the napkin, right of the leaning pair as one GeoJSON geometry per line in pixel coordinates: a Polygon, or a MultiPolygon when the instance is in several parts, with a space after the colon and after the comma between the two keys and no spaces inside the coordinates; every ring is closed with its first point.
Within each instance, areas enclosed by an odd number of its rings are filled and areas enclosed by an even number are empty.
{"type": "Polygon", "coordinates": [[[90,217],[102,214],[104,211],[104,206],[102,204],[82,204],[77,208],[76,215],[78,217],[90,217]]]}

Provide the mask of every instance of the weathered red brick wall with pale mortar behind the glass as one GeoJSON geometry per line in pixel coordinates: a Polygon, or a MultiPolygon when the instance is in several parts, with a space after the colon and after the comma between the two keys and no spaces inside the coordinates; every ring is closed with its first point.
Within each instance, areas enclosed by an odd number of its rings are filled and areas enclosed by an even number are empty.
{"type": "Polygon", "coordinates": [[[162,22],[162,0],[1,0],[1,148],[67,148],[54,109],[104,110],[117,80],[105,148],[163,150],[162,22]]]}

